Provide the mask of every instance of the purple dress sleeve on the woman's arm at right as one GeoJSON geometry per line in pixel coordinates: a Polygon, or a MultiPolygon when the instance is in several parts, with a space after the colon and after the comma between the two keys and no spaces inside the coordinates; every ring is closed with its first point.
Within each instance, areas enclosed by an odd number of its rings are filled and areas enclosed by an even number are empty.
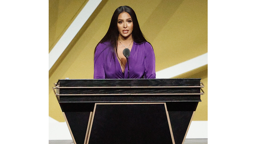
{"type": "Polygon", "coordinates": [[[151,44],[146,43],[145,48],[145,76],[147,79],[156,78],[156,59],[153,47],[151,44]]]}

